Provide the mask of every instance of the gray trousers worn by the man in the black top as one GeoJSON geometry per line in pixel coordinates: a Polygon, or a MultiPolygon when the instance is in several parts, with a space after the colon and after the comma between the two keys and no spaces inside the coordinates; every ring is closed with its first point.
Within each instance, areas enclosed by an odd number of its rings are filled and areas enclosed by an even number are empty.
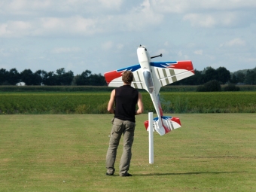
{"type": "Polygon", "coordinates": [[[135,123],[129,120],[114,118],[110,135],[108,152],[106,157],[106,168],[108,174],[114,174],[114,162],[117,156],[117,148],[123,134],[123,154],[120,159],[119,175],[126,175],[130,168],[132,158],[132,145],[134,138],[135,123]]]}

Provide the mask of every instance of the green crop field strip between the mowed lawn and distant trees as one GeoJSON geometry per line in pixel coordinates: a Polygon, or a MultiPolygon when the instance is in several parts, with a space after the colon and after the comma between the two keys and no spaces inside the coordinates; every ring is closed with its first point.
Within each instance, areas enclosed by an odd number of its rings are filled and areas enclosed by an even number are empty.
{"type": "MultiPolygon", "coordinates": [[[[1,93],[0,114],[104,114],[110,92],[1,93]]],[[[154,111],[142,92],[145,113],[154,111]]],[[[255,113],[256,92],[161,92],[165,113],[255,113]]]]}

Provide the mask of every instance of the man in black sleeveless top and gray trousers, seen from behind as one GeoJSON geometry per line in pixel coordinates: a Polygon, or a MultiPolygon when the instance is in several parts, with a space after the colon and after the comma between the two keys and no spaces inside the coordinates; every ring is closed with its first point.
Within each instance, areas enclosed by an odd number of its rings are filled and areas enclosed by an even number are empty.
{"type": "Polygon", "coordinates": [[[132,176],[128,173],[132,158],[132,145],[135,130],[135,115],[143,113],[142,94],[131,87],[133,72],[122,74],[123,86],[112,90],[108,102],[108,111],[114,114],[112,130],[106,157],[106,175],[114,175],[114,162],[117,148],[123,134],[123,154],[120,159],[119,175],[132,176]],[[115,104],[115,108],[114,105],[115,104]],[[138,105],[138,110],[136,110],[138,105]]]}

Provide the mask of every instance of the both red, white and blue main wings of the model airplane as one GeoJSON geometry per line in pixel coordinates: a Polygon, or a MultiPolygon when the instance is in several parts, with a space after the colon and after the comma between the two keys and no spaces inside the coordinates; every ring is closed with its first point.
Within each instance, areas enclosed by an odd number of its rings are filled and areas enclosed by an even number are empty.
{"type": "MultiPolygon", "coordinates": [[[[145,82],[143,81],[143,71],[139,64],[106,72],[104,76],[108,87],[122,86],[122,73],[126,70],[133,72],[134,80],[131,84],[132,87],[147,90],[145,82]]],[[[154,76],[155,88],[159,91],[160,87],[194,75],[194,68],[191,61],[151,62],[151,72],[154,76]]]]}

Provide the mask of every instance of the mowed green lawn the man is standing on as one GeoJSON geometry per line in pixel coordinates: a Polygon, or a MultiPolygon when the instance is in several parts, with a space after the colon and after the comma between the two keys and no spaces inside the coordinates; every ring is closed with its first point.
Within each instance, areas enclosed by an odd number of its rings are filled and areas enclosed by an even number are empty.
{"type": "Polygon", "coordinates": [[[154,133],[136,116],[130,173],[105,175],[111,114],[0,115],[0,191],[256,191],[256,114],[175,114],[154,133]]]}

